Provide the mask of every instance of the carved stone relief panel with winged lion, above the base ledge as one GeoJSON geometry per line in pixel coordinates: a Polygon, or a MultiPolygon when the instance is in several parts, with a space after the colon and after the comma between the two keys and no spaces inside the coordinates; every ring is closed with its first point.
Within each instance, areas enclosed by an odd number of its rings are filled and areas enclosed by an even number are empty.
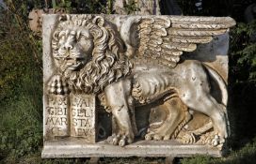
{"type": "Polygon", "coordinates": [[[230,135],[227,67],[215,62],[228,44],[215,42],[226,43],[234,24],[228,17],[44,16],[44,141],[221,150],[230,135]],[[214,55],[203,46],[195,53],[199,44],[216,46],[214,55]]]}

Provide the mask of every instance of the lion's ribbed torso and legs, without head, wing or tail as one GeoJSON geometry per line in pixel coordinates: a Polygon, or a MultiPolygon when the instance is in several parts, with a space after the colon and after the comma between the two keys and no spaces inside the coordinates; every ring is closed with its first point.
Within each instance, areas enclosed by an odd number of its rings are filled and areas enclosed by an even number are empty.
{"type": "MultiPolygon", "coordinates": [[[[132,69],[130,77],[120,80],[120,82],[111,83],[106,87],[104,90],[106,104],[118,120],[118,125],[122,129],[120,131],[126,128],[129,131],[128,128],[133,128],[126,126],[133,125],[133,118],[130,118],[133,115],[129,115],[128,112],[115,111],[130,111],[134,108],[134,101],[138,101],[139,103],[136,104],[139,106],[146,105],[164,98],[168,94],[173,94],[173,90],[175,90],[175,93],[181,98],[186,107],[208,115],[214,123],[216,133],[219,133],[224,139],[228,137],[227,112],[225,112],[225,106],[222,102],[217,102],[211,96],[208,76],[206,67],[198,61],[187,60],[174,68],[157,64],[137,63],[132,69]],[[121,90],[121,92],[116,93],[115,90],[121,90]],[[116,98],[112,99],[112,97],[116,98]],[[126,120],[125,124],[123,123],[124,120],[126,120]],[[128,124],[130,120],[132,120],[132,123],[128,124]]],[[[185,117],[181,117],[183,116],[181,109],[171,109],[169,105],[168,107],[171,112],[168,115],[168,121],[154,132],[146,135],[149,139],[168,140],[176,127],[185,119],[185,117]]],[[[136,132],[136,130],[133,132],[136,132]]]]}

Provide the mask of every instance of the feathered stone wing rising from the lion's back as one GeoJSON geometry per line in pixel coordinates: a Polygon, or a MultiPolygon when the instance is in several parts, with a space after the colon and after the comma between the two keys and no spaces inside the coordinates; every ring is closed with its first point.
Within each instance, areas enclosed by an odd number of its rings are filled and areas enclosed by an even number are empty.
{"type": "Polygon", "coordinates": [[[175,67],[183,52],[195,51],[197,44],[209,43],[234,24],[229,17],[135,16],[123,22],[120,35],[129,57],[175,67]]]}

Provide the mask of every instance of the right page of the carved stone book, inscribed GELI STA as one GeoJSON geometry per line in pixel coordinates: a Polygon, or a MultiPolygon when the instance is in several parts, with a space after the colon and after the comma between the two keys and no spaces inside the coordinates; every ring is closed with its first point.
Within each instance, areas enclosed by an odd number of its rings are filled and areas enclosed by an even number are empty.
{"type": "Polygon", "coordinates": [[[71,96],[71,136],[83,137],[96,142],[95,97],[90,95],[71,96]]]}

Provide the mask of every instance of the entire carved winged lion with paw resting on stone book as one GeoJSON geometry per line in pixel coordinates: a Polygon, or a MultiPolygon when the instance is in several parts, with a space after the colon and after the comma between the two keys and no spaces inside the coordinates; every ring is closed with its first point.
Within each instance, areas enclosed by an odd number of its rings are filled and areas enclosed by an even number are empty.
{"type": "MultiPolygon", "coordinates": [[[[61,81],[73,93],[96,95],[112,112],[116,127],[111,142],[134,142],[136,107],[159,100],[171,114],[146,139],[169,140],[182,122],[175,116],[179,110],[171,108],[173,95],[190,110],[209,116],[219,143],[225,142],[230,133],[226,83],[212,67],[183,60],[182,54],[226,33],[235,24],[232,18],[131,16],[120,19],[120,25],[116,21],[99,15],[62,15],[52,38],[61,81]],[[211,95],[209,77],[220,88],[220,102],[211,95]]],[[[49,87],[55,85],[54,75],[49,87]]]]}

